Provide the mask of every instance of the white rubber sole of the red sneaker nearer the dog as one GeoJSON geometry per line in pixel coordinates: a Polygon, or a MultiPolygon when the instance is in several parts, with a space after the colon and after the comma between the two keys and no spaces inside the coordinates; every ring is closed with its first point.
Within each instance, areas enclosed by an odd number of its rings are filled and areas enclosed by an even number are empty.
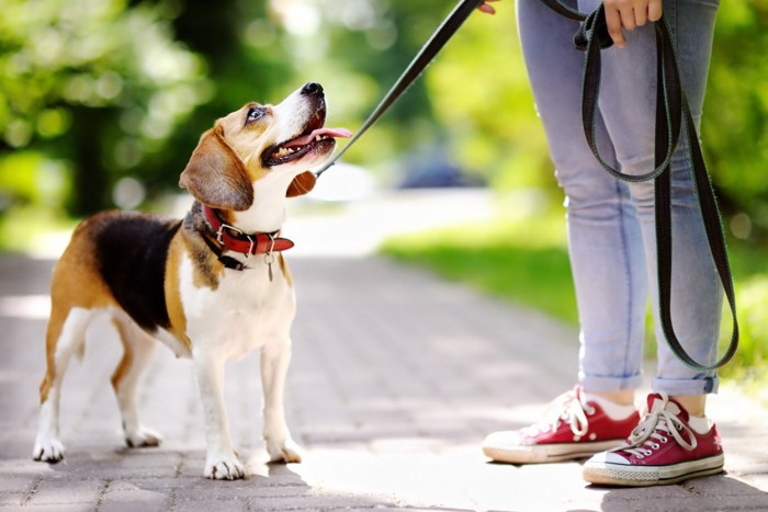
{"type": "Polygon", "coordinates": [[[624,440],[596,441],[591,443],[535,444],[516,446],[513,450],[483,446],[483,453],[496,463],[545,464],[588,458],[599,452],[621,446],[624,440]]]}

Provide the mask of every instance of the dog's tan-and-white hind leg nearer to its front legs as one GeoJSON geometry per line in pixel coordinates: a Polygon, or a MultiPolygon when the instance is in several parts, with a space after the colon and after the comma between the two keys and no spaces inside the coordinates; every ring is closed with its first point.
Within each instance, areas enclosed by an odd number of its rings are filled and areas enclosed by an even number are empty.
{"type": "Polygon", "coordinates": [[[112,374],[112,387],[123,419],[125,443],[132,448],[157,446],[160,436],[142,426],[136,406],[138,384],[155,353],[156,342],[127,317],[115,315],[112,323],[123,343],[123,359],[112,374]]]}

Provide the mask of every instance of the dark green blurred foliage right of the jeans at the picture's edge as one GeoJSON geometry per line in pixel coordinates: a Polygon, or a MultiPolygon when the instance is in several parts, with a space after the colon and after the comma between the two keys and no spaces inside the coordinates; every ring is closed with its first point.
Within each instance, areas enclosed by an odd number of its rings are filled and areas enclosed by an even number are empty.
{"type": "Polygon", "coordinates": [[[703,148],[726,212],[768,232],[768,0],[722,2],[704,115],[703,148]]]}

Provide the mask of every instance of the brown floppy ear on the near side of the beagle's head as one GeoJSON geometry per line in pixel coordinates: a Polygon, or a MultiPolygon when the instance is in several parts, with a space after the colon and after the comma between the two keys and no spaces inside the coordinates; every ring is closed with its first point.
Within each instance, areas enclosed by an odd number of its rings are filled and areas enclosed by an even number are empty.
{"type": "Polygon", "coordinates": [[[216,125],[200,137],[179,186],[214,208],[242,212],[253,204],[253,187],[242,160],[216,125]]]}

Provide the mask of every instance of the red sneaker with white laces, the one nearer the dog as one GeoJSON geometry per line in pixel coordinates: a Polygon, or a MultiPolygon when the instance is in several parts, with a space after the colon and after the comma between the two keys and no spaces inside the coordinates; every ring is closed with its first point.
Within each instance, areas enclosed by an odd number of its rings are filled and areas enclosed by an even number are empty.
{"type": "Polygon", "coordinates": [[[639,421],[637,411],[623,420],[611,419],[598,403],[586,401],[581,388],[576,386],[549,406],[543,421],[488,435],[483,453],[510,464],[585,458],[621,446],[639,421]]]}

